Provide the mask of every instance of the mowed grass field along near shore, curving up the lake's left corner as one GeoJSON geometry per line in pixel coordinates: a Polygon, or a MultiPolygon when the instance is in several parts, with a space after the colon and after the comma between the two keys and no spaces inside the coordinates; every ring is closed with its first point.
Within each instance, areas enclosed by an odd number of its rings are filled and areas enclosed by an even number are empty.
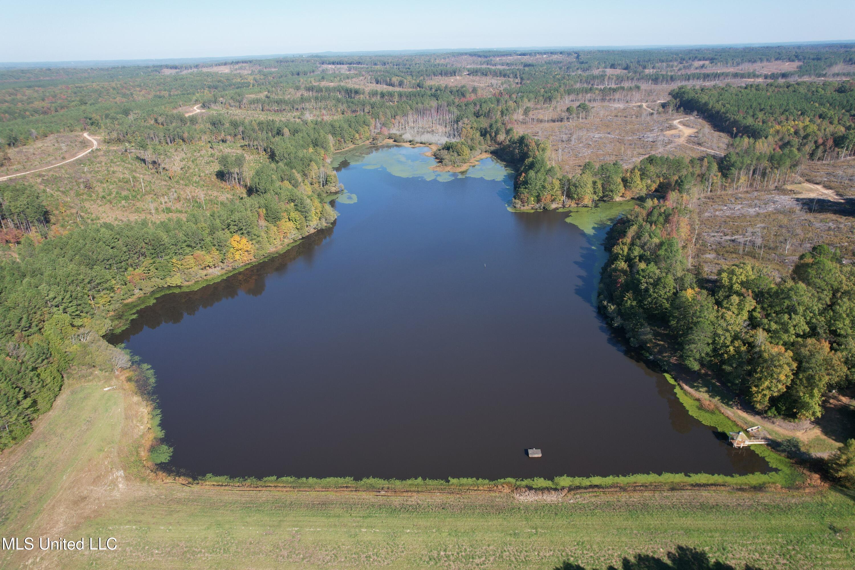
{"type": "Polygon", "coordinates": [[[576,491],[551,502],[229,491],[147,474],[145,417],[121,379],[69,380],[32,436],[0,455],[0,534],[115,537],[118,549],[4,551],[0,567],[591,568],[679,545],[738,567],[855,564],[855,502],[839,491],[576,491]]]}

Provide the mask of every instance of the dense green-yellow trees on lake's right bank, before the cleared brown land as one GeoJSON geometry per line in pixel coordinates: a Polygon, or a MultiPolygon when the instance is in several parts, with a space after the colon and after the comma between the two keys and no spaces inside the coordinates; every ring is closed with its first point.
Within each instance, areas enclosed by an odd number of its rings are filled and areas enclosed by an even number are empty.
{"type": "Polygon", "coordinates": [[[648,200],[612,228],[599,308],[643,350],[664,339],[761,412],[823,413],[827,391],[855,380],[855,268],[817,246],[775,282],[740,262],[700,286],[684,255],[687,195],[648,200]]]}

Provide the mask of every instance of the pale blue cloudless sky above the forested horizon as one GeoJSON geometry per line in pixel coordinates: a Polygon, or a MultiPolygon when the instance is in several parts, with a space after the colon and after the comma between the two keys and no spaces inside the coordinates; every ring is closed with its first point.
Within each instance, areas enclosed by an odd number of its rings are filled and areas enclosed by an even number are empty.
{"type": "Polygon", "coordinates": [[[855,1],[0,0],[0,62],[855,38],[855,1]]]}

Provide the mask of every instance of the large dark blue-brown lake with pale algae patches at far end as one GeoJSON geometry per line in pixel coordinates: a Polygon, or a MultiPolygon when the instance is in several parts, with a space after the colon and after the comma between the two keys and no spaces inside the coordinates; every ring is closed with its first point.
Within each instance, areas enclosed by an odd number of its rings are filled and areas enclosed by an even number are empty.
{"type": "MultiPolygon", "coordinates": [[[[486,159],[351,155],[333,228],[114,342],[154,367],[171,465],[405,479],[754,473],[598,317],[598,211],[513,213],[486,159]],[[582,228],[588,231],[583,231],[582,228]],[[543,450],[540,459],[523,453],[543,450]]],[[[612,206],[615,208],[615,206],[612,206]]]]}

